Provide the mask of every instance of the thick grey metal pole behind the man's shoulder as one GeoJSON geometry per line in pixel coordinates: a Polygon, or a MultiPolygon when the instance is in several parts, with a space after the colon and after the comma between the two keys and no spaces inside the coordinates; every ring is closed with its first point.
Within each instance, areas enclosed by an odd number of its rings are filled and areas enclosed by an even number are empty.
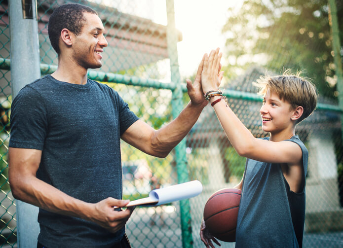
{"type": "MultiPolygon", "coordinates": [[[[26,84],[40,78],[36,0],[9,1],[12,98],[26,84]]],[[[19,248],[36,248],[38,207],[16,201],[19,248]]]]}

